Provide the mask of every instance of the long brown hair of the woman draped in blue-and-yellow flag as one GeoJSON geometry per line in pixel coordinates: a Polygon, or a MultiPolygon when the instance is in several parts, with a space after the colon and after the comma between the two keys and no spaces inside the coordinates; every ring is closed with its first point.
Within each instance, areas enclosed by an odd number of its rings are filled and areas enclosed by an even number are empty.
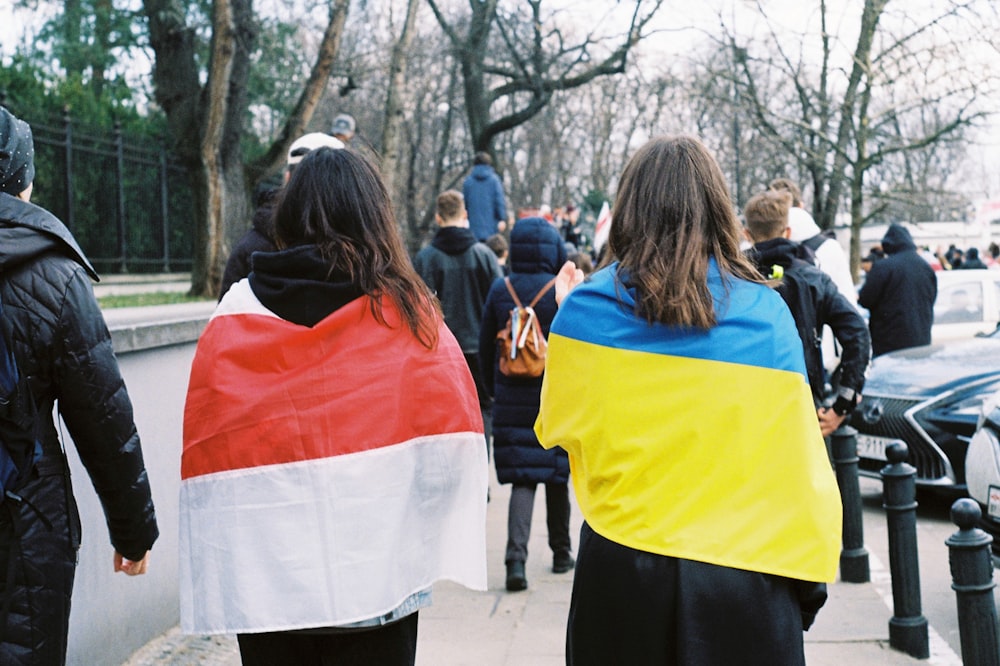
{"type": "Polygon", "coordinates": [[[740,250],[722,171],[698,139],[657,137],[640,148],[622,172],[612,220],[607,261],[619,261],[636,314],[651,323],[716,324],[709,257],[723,277],[761,281],[740,250]]]}

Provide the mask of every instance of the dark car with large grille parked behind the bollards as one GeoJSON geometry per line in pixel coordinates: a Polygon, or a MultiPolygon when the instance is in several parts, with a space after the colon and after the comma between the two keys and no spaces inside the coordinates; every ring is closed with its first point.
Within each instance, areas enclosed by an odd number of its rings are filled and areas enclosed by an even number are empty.
{"type": "MultiPolygon", "coordinates": [[[[973,272],[973,271],[965,271],[973,272]]],[[[1000,329],[876,358],[850,425],[859,472],[878,477],[886,447],[903,441],[916,482],[962,494],[966,452],[983,404],[1000,390],[1000,329]]]]}

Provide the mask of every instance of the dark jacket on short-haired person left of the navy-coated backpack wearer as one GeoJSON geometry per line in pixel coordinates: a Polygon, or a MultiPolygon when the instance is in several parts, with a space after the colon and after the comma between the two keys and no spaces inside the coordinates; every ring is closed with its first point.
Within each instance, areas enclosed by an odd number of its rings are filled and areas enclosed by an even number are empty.
{"type": "Polygon", "coordinates": [[[441,227],[413,267],[441,301],[444,323],[462,352],[479,351],[479,322],[493,280],[503,275],[497,257],[463,227],[441,227]]]}

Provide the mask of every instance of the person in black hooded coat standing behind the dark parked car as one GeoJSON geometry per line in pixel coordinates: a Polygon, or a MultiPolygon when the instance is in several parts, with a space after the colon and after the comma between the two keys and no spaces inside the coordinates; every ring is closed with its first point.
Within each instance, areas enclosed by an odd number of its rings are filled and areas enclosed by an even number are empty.
{"type": "Polygon", "coordinates": [[[870,313],[875,356],[929,345],[937,299],[934,269],[917,253],[905,227],[890,225],[882,250],[885,259],[872,264],[858,294],[858,303],[870,313]]]}

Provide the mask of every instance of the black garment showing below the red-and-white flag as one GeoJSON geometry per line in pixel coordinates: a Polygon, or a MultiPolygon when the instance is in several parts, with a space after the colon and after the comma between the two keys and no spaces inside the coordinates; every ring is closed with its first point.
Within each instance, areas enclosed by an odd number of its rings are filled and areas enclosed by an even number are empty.
{"type": "Polygon", "coordinates": [[[243,666],[413,666],[417,613],[371,629],[237,634],[243,666]]]}

